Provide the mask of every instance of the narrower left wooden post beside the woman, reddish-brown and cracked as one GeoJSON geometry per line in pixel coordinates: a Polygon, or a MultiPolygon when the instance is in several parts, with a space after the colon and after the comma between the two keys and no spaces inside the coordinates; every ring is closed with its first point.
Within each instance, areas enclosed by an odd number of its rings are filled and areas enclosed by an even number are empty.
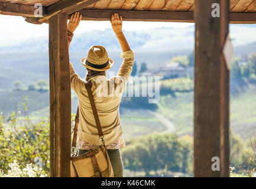
{"type": "Polygon", "coordinates": [[[50,58],[50,175],[70,176],[71,89],[67,15],[49,20],[50,58]]]}

